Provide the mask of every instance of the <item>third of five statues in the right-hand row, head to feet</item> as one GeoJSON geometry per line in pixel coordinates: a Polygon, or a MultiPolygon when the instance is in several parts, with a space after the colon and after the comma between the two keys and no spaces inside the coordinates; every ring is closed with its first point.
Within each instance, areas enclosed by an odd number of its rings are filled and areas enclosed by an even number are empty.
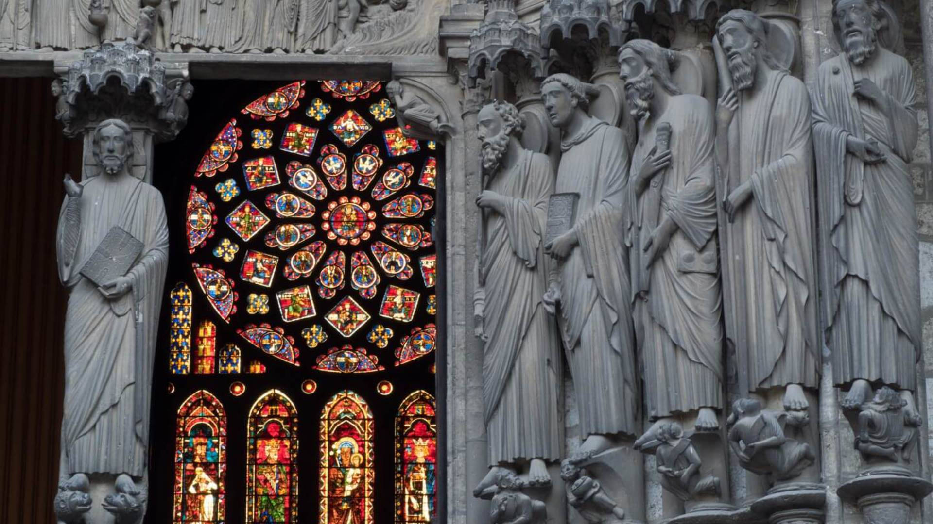
{"type": "Polygon", "coordinates": [[[648,418],[692,413],[697,431],[713,431],[723,407],[713,108],[680,94],[668,49],[633,40],[619,62],[640,127],[627,234],[648,418]]]}

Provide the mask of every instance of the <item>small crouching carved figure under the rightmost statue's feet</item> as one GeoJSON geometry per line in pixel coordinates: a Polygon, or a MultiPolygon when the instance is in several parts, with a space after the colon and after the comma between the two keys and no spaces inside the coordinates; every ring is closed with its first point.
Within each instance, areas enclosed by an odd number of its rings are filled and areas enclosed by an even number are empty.
{"type": "Polygon", "coordinates": [[[923,420],[907,414],[907,401],[883,386],[861,406],[856,429],[856,449],[867,462],[911,462],[923,420]]]}

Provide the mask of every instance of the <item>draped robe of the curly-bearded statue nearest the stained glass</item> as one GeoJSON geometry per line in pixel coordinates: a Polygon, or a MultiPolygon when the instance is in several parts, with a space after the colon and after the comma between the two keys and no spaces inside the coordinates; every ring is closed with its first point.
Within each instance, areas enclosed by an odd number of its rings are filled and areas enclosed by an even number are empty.
{"type": "Polygon", "coordinates": [[[544,310],[548,265],[541,246],[554,175],[545,155],[522,150],[489,189],[508,200],[487,211],[482,377],[490,464],[559,460],[564,449],[561,349],[544,310]]]}

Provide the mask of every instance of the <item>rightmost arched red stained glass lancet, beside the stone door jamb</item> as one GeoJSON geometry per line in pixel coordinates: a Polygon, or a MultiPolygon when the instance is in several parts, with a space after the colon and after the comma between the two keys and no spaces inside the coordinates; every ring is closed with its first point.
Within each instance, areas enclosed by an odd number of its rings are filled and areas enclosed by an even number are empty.
{"type": "Polygon", "coordinates": [[[437,517],[438,426],[434,397],[411,393],[396,416],[396,524],[437,517]]]}

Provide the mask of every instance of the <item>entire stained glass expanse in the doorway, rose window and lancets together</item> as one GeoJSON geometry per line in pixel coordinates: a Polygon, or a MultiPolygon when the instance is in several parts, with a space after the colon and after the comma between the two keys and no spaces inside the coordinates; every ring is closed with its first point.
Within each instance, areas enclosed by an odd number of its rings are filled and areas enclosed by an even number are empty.
{"type": "MultiPolygon", "coordinates": [[[[153,402],[152,440],[174,438],[183,399],[211,391],[233,438],[233,476],[202,466],[216,503],[225,490],[224,524],[423,522],[437,477],[442,145],[404,135],[379,80],[201,82],[209,96],[183,136],[158,146],[157,183],[188,173],[165,193],[187,249],[170,254],[168,365],[154,390],[168,393],[153,402]],[[318,429],[320,453],[299,456],[299,426],[318,429]]],[[[159,522],[174,506],[157,501],[200,493],[195,470],[184,492],[174,485],[174,448],[162,448],[150,470],[159,522]]],[[[173,518],[220,522],[219,511],[173,518]]]]}

